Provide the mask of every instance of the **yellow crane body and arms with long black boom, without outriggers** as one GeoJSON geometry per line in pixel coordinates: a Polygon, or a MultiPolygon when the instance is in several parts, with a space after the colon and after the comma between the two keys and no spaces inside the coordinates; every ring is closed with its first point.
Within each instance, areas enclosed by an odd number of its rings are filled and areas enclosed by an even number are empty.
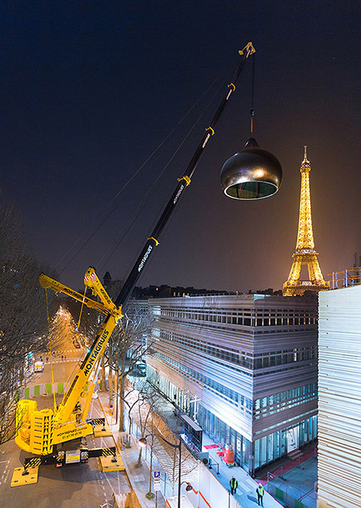
{"type": "Polygon", "coordinates": [[[77,409],[79,407],[79,399],[84,393],[86,387],[91,385],[90,376],[99,365],[99,361],[104,354],[107,342],[118,321],[123,316],[122,307],[130,297],[135,283],[149,262],[155,247],[159,245],[159,238],[184,190],[191,183],[192,175],[204,152],[204,149],[215,133],[215,126],[218,123],[218,120],[220,119],[230,97],[232,96],[232,93],[236,89],[236,83],[243,70],[245,62],[254,52],[255,49],[251,42],[249,42],[243,50],[239,51],[242,59],[231,83],[227,86],[225,96],[219,108],[216,110],[210,124],[205,129],[205,134],[202,137],[188,167],[186,168],[186,171],[182,177],[177,179],[178,183],[170,200],[168,201],[151,236],[147,238],[139,257],[131,269],[115,302],[113,303],[109,295],[107,295],[96,275],[95,269],[92,267],[87,270],[84,282],[91,288],[93,294],[100,298],[101,303],[92,300],[91,298],[83,297],[80,293],[67,288],[47,275],[41,275],[40,283],[44,288],[50,288],[55,292],[65,293],[76,300],[84,302],[84,304],[88,307],[95,308],[99,312],[102,312],[106,315],[106,317],[97,332],[90,350],[79,367],[73,382],[67,390],[63,401],[55,411],[52,409],[37,410],[37,403],[33,400],[19,401],[19,430],[15,441],[23,450],[40,456],[46,456],[53,452],[54,445],[92,433],[92,425],[86,423],[86,412],[89,407],[89,397],[91,397],[92,389],[88,390],[88,398],[86,399],[84,406],[85,411],[83,411],[83,414],[80,416],[77,409]]]}

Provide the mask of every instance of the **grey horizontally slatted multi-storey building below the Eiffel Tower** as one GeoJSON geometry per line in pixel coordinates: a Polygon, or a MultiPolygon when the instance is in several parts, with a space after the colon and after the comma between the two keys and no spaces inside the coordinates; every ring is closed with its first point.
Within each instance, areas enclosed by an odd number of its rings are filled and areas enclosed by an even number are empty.
{"type": "Polygon", "coordinates": [[[316,301],[218,295],[149,309],[148,379],[250,474],[316,437],[316,301]]]}

